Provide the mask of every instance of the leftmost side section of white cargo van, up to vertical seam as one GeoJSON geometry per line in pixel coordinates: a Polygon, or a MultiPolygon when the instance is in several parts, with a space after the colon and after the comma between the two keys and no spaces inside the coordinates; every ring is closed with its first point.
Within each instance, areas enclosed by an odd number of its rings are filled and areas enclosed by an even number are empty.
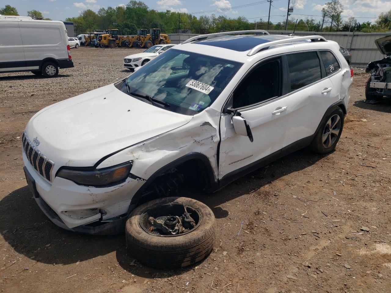
{"type": "Polygon", "coordinates": [[[19,21],[0,22],[0,72],[26,70],[19,21]]]}

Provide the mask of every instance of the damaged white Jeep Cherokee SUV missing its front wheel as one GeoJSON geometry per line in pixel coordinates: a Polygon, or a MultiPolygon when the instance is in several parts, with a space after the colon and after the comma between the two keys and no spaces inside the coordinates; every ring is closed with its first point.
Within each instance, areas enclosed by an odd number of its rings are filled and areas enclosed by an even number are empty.
{"type": "Polygon", "coordinates": [[[300,148],[331,152],[350,84],[339,45],[321,36],[190,38],[36,113],[23,134],[27,182],[60,227],[120,233],[137,205],[183,182],[216,191],[300,148]]]}

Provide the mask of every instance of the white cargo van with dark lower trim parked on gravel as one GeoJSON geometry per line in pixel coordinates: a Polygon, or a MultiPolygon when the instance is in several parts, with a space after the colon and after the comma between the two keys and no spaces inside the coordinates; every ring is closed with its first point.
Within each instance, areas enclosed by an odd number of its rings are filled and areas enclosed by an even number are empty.
{"type": "Polygon", "coordinates": [[[56,77],[59,68],[73,66],[62,21],[0,16],[0,73],[31,71],[56,77]]]}

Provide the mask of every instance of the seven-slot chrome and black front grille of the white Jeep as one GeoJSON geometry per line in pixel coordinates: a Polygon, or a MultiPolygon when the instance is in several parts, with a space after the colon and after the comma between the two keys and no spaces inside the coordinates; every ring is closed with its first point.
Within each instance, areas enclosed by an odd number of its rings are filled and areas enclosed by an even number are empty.
{"type": "Polygon", "coordinates": [[[22,147],[32,167],[39,173],[39,175],[52,182],[54,162],[41,154],[36,147],[33,147],[26,132],[23,132],[22,135],[22,147]]]}

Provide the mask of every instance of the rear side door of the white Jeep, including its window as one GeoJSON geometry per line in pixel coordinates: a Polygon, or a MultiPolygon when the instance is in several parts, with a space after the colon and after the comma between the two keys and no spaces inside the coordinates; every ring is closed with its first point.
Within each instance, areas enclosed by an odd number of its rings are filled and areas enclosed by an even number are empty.
{"type": "Polygon", "coordinates": [[[310,142],[311,136],[332,104],[333,84],[326,76],[317,51],[284,56],[287,64],[288,127],[284,130],[283,147],[298,148],[310,142]]]}

